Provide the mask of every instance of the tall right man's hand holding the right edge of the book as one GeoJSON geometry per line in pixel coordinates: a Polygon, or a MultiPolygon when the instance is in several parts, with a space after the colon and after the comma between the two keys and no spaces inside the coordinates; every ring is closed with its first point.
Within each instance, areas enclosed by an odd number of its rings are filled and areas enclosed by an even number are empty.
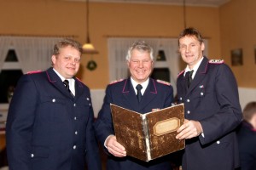
{"type": "Polygon", "coordinates": [[[176,139],[191,139],[203,132],[201,123],[185,119],[184,124],[177,129],[176,139]]]}

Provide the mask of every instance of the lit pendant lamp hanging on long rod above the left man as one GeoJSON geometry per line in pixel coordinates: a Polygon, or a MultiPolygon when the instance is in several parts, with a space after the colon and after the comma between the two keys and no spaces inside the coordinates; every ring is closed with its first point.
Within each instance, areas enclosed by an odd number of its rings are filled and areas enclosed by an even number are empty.
{"type": "Polygon", "coordinates": [[[92,43],[90,42],[89,37],[89,0],[86,0],[86,42],[83,45],[83,53],[84,54],[98,54],[98,51],[94,48],[92,43]]]}

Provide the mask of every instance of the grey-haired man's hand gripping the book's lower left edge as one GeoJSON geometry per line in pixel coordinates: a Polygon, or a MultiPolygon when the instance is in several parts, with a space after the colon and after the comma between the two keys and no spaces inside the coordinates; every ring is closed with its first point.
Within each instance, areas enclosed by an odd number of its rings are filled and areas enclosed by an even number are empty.
{"type": "Polygon", "coordinates": [[[113,135],[108,136],[108,138],[106,139],[106,146],[107,146],[108,152],[111,153],[113,156],[117,156],[117,157],[126,156],[125,147],[116,141],[115,136],[113,135]]]}

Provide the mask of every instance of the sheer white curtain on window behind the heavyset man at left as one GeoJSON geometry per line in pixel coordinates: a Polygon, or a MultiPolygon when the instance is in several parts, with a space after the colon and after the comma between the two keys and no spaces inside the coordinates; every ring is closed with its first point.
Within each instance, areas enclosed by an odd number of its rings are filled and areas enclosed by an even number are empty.
{"type": "Polygon", "coordinates": [[[9,48],[13,48],[24,73],[44,71],[51,66],[51,54],[59,40],[61,37],[0,37],[0,68],[9,48]]]}

